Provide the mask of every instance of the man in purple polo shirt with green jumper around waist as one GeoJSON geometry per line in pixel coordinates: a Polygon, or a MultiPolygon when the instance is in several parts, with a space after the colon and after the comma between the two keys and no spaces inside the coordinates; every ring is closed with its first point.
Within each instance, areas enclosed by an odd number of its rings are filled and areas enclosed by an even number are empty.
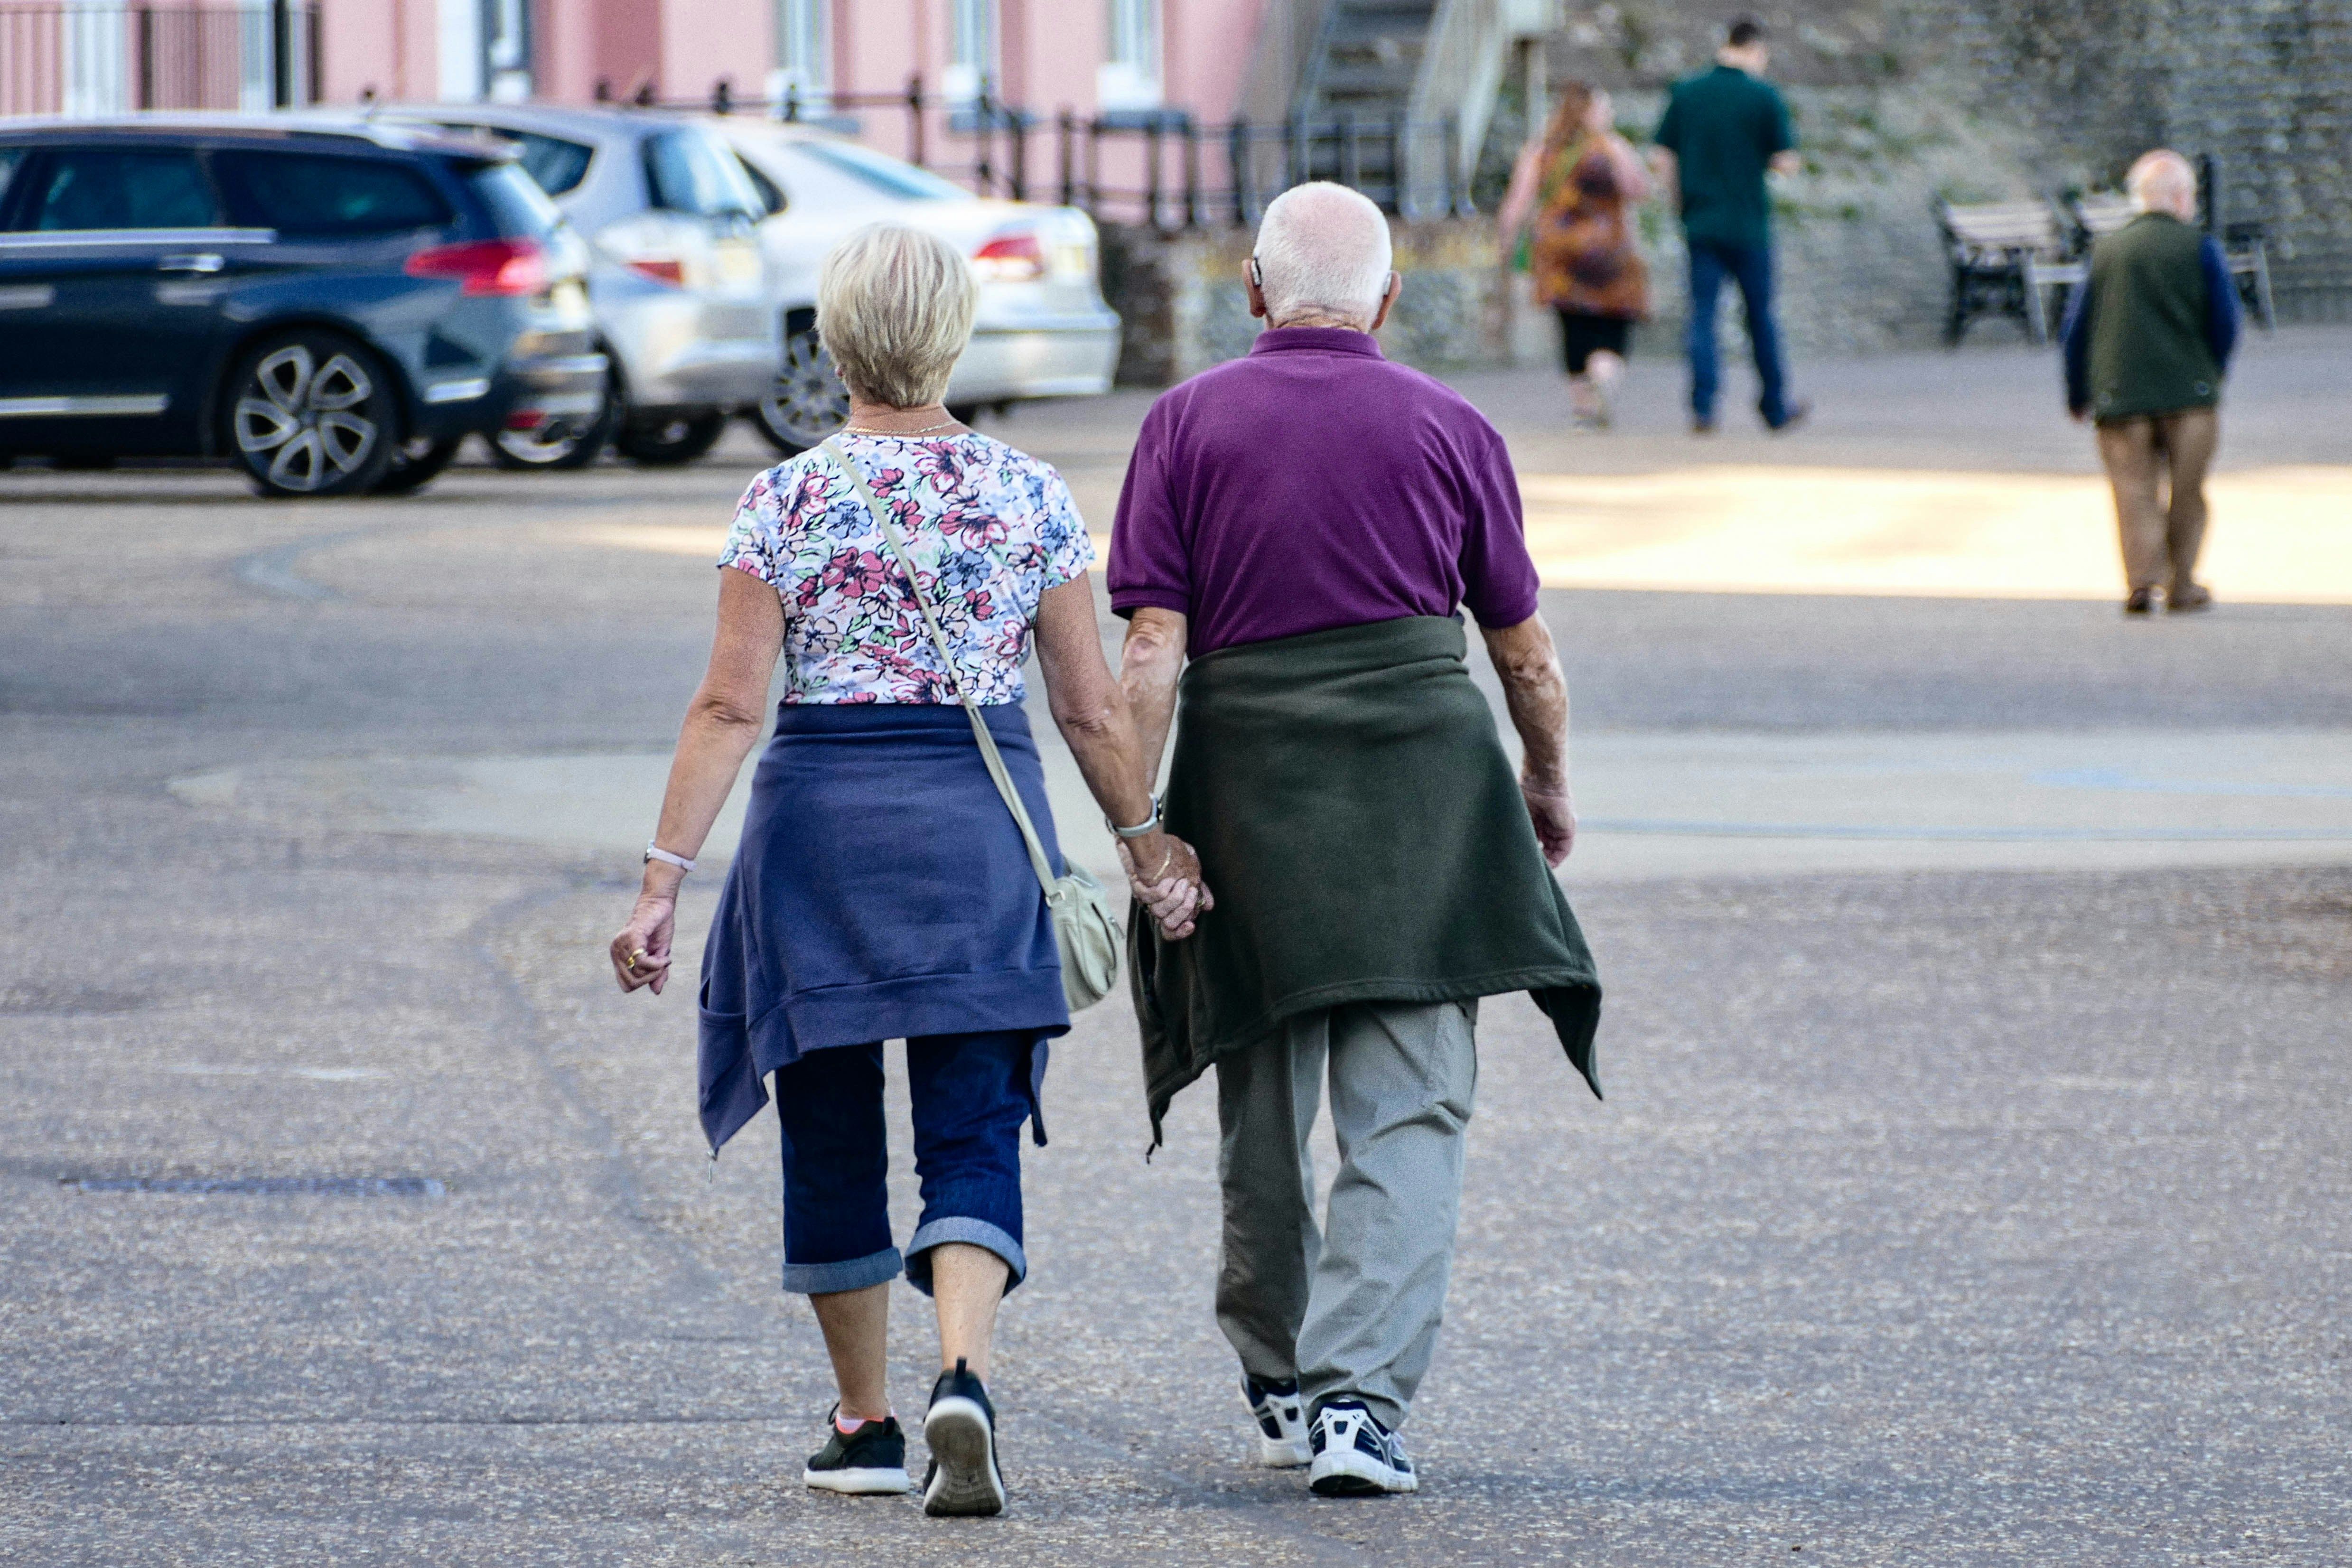
{"type": "Polygon", "coordinates": [[[1599,985],[1545,860],[1576,839],[1569,693],[1503,437],[1381,357],[1388,221],[1329,183],[1265,209],[1251,353],[1143,421],[1110,543],[1145,762],[1216,910],[1134,926],[1152,1133],[1216,1070],[1216,1319],[1265,1465],[1319,1495],[1416,1488],[1397,1441],[1461,1211],[1477,999],[1526,990],[1592,1091],[1599,985]],[[1470,679],[1477,616],[1526,750],[1470,679]],[[1185,658],[1190,656],[1190,668],[1185,658]],[[1178,684],[1181,672],[1181,684],[1178,684]],[[1331,1081],[1338,1180],[1308,1133],[1331,1081]]]}

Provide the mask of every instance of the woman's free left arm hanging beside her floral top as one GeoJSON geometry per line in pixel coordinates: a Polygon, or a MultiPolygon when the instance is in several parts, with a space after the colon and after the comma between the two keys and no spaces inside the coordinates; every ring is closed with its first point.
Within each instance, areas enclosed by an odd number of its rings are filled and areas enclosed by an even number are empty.
{"type": "MultiPolygon", "coordinates": [[[[760,743],[767,722],[767,684],[783,649],[783,599],[748,571],[720,571],[720,630],[710,642],[710,668],[687,703],[670,757],[670,788],[661,797],[654,844],[691,860],[710,837],[743,759],[760,743]]],[[[612,971],[621,990],[670,976],[670,936],[677,917],[677,884],[687,875],[663,860],[644,863],[644,886],[621,936],[612,938],[612,971]]]]}

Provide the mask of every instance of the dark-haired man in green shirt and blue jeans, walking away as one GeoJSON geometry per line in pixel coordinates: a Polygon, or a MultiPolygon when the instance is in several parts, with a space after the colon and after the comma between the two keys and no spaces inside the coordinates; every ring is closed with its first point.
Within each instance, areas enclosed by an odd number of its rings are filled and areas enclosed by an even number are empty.
{"type": "Polygon", "coordinates": [[[1691,430],[1715,430],[1715,303],[1724,280],[1748,308],[1748,341],[1764,383],[1764,425],[1788,430],[1811,411],[1790,402],[1780,329],[1771,317],[1771,195],[1764,172],[1797,172],[1788,103],[1764,80],[1771,49],[1764,24],[1740,16],[1715,52],[1715,71],[1675,85],[1656,134],[1658,176],[1677,193],[1691,249],[1691,430]]]}

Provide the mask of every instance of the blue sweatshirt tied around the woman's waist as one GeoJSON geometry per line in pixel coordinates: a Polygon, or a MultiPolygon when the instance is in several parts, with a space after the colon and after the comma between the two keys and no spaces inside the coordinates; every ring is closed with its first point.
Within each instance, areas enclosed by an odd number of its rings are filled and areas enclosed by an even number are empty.
{"type": "MultiPolygon", "coordinates": [[[[981,710],[1061,870],[1018,703],[981,710]]],[[[1054,919],[962,708],[786,703],[703,947],[713,1154],[807,1051],[1070,1027],[1054,919]]]]}

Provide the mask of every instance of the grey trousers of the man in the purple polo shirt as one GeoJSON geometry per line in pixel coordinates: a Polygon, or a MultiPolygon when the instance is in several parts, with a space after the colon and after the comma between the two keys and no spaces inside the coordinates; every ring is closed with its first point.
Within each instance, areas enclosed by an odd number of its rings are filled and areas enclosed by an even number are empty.
{"type": "Polygon", "coordinates": [[[1216,1063],[1225,1260],[1216,1324],[1242,1368],[1308,1410],[1362,1399],[1402,1427],[1454,1272],[1477,1001],[1350,1001],[1216,1063]],[[1308,1135],[1331,1077],[1338,1178],[1315,1225],[1308,1135]]]}

